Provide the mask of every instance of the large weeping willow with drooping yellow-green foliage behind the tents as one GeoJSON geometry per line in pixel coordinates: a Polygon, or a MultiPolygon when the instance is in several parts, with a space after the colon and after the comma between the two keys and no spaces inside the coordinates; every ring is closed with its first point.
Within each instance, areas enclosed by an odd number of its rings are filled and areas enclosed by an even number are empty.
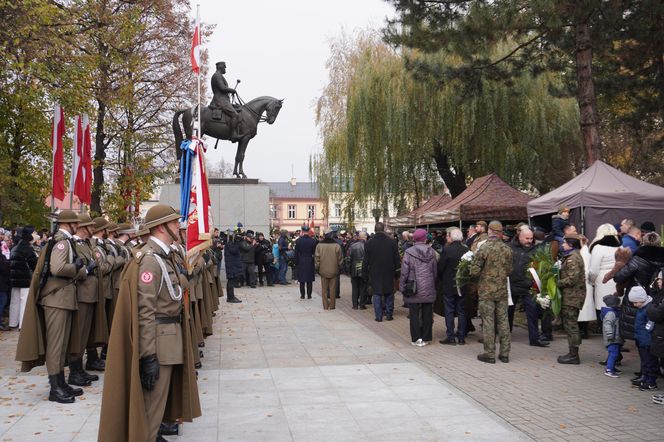
{"type": "Polygon", "coordinates": [[[406,64],[424,57],[441,70],[458,64],[442,53],[399,54],[366,32],[334,42],[317,107],[323,151],[312,161],[324,194],[348,190],[349,202],[385,213],[389,203],[417,206],[443,183],[454,197],[492,172],[540,192],[571,178],[583,155],[578,108],[552,94],[553,74],[469,91],[454,79],[414,78],[406,64]]]}

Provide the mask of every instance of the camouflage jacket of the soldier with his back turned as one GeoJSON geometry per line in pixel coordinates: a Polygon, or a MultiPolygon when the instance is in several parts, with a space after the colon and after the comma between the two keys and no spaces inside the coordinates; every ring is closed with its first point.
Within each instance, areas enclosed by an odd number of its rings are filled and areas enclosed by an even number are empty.
{"type": "Polygon", "coordinates": [[[489,238],[470,263],[470,276],[478,279],[480,301],[507,301],[507,277],[512,273],[512,250],[500,239],[489,238]]]}

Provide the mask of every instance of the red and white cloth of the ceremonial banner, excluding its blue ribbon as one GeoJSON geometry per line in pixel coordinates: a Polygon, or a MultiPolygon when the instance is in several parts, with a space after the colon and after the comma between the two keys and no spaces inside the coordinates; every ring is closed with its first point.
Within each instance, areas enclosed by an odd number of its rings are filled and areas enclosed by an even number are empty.
{"type": "Polygon", "coordinates": [[[191,142],[195,156],[192,164],[189,213],[187,216],[187,264],[193,264],[201,251],[212,245],[210,191],[205,170],[205,145],[198,138],[191,142]]]}

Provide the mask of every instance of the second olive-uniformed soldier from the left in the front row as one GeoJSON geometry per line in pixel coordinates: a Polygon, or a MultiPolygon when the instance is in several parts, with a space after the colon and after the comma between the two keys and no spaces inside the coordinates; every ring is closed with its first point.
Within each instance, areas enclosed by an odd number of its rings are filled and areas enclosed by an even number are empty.
{"type": "Polygon", "coordinates": [[[92,381],[99,380],[99,376],[87,373],[83,370],[83,352],[90,337],[92,320],[95,308],[99,300],[99,280],[97,279],[97,259],[90,247],[89,238],[92,236],[90,226],[94,222],[90,215],[81,213],[78,215],[79,223],[74,235],[76,242],[76,253],[83,260],[87,277],[78,283],[76,297],[78,300],[78,326],[81,335],[81,345],[77,358],[69,359],[69,379],[71,385],[87,387],[92,381]]]}

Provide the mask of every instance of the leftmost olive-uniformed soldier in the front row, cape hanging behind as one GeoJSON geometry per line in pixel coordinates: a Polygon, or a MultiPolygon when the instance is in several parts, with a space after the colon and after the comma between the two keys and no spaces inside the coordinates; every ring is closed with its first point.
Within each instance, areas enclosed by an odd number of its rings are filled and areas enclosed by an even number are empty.
{"type": "Polygon", "coordinates": [[[72,329],[73,312],[78,309],[76,284],[87,276],[84,261],[77,257],[73,233],[78,217],[71,210],[63,210],[57,219],[49,261],[49,278],[40,293],[46,324],[46,369],[51,391],[48,400],[60,403],[74,402],[74,396],[83,394],[65,382],[65,359],[72,329]]]}

